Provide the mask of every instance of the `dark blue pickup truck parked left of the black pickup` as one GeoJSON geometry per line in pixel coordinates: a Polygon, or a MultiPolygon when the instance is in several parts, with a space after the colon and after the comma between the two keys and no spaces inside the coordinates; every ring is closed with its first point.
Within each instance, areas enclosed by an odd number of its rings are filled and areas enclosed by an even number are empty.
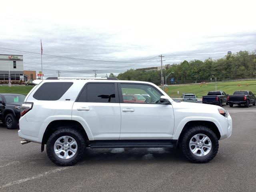
{"type": "Polygon", "coordinates": [[[222,106],[223,103],[226,103],[228,105],[228,94],[224,91],[210,91],[207,96],[202,97],[202,103],[218,106],[222,106]]]}

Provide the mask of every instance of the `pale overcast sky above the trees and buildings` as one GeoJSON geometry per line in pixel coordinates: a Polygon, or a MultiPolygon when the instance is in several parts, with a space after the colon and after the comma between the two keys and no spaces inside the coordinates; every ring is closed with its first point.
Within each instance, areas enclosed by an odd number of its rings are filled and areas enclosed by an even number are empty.
{"type": "Polygon", "coordinates": [[[38,72],[42,39],[45,77],[57,76],[57,70],[62,77],[90,77],[97,70],[101,77],[160,66],[160,54],[163,64],[173,64],[256,50],[255,0],[0,4],[0,54],[23,54],[24,70],[38,72]]]}

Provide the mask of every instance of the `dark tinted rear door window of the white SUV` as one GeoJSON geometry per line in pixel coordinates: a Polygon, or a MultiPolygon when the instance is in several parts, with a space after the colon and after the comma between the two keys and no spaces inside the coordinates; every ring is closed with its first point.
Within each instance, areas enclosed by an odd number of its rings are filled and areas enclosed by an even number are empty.
{"type": "Polygon", "coordinates": [[[89,83],[87,89],[87,102],[114,103],[116,102],[114,83],[89,83]]]}

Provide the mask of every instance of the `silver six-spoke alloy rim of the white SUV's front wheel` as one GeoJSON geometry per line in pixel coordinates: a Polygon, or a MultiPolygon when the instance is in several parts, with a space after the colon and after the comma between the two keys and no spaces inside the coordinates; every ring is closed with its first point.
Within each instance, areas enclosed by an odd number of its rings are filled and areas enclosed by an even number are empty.
{"type": "Polygon", "coordinates": [[[196,134],[190,139],[189,149],[195,156],[206,156],[212,149],[212,142],[205,134],[196,134]]]}

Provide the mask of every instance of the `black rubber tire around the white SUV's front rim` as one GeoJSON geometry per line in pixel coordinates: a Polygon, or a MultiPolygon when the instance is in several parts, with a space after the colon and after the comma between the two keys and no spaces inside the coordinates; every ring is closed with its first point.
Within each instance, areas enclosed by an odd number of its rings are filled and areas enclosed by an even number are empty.
{"type": "Polygon", "coordinates": [[[207,163],[212,160],[219,148],[219,142],[216,134],[207,128],[206,126],[194,126],[186,130],[181,138],[181,149],[184,156],[193,163],[207,163]],[[208,136],[212,142],[212,148],[208,154],[205,156],[196,156],[190,151],[190,139],[196,134],[205,134],[208,136]]]}

